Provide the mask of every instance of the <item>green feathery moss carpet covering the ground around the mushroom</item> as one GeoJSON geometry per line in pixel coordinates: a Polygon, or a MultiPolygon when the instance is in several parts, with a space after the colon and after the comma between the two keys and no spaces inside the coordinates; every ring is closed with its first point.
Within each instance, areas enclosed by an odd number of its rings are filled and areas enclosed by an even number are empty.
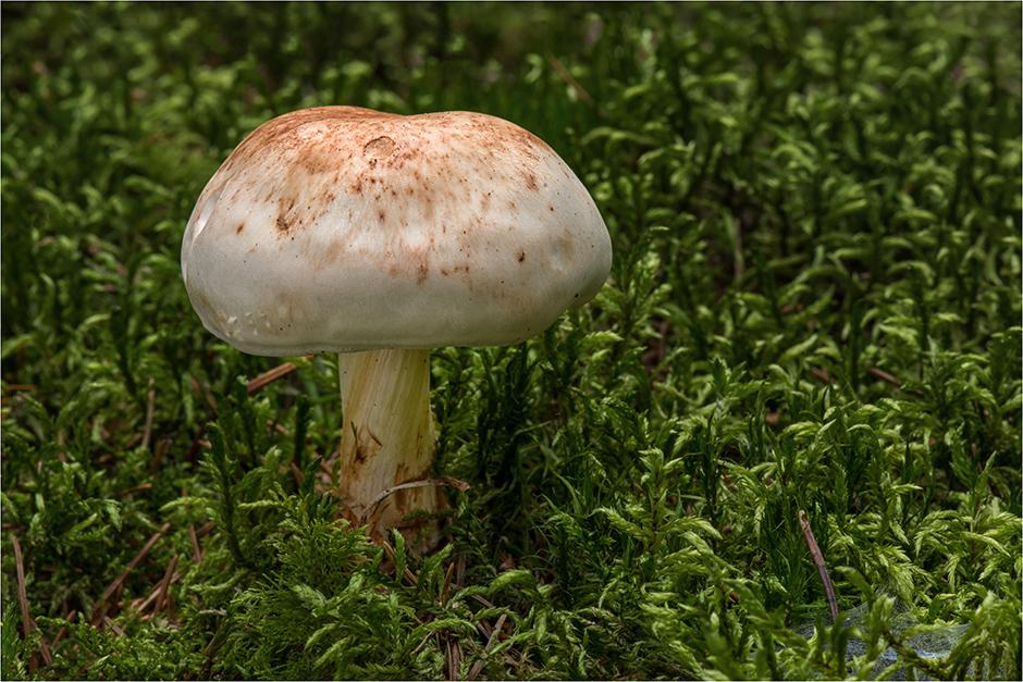
{"type": "Polygon", "coordinates": [[[1019,4],[3,12],[4,677],[1019,679],[1019,4]],[[181,282],[230,150],[342,103],[523,125],[615,247],[433,352],[431,557],[315,485],[334,361],[249,395],[181,282]]]}

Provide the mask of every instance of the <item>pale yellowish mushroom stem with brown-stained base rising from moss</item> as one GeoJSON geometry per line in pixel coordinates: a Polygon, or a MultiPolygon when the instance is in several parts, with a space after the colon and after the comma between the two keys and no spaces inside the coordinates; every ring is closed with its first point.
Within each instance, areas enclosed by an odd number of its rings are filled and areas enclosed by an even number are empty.
{"type": "Polygon", "coordinates": [[[395,491],[375,510],[380,493],[402,483],[428,479],[436,436],[430,411],[429,350],[369,350],[337,356],[345,427],[341,438],[341,492],[352,511],[378,528],[397,528],[407,540],[429,530],[420,545],[436,541],[436,522],[405,521],[417,509],[445,508],[435,486],[395,491]],[[433,528],[428,529],[428,525],[433,528]]]}

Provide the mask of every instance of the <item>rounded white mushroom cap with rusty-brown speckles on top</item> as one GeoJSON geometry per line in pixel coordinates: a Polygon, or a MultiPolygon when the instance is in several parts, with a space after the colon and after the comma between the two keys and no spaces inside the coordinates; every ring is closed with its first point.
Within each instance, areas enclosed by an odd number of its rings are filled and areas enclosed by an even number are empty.
{"type": "Polygon", "coordinates": [[[321,107],[238,145],[181,260],[207,330],[296,356],[518,343],[596,295],[612,248],[579,178],[507,121],[321,107]]]}

